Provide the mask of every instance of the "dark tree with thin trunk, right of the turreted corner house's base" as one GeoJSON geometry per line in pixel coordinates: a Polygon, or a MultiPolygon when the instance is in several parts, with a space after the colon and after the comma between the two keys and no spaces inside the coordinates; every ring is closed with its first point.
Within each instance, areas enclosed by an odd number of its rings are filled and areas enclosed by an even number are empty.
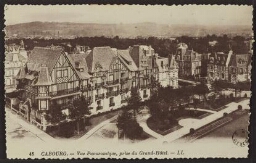
{"type": "Polygon", "coordinates": [[[70,118],[72,119],[76,119],[77,121],[77,131],[78,133],[80,132],[80,126],[79,126],[79,122],[80,120],[83,118],[84,123],[85,123],[85,115],[90,115],[91,112],[89,110],[89,103],[88,101],[85,99],[84,96],[81,96],[78,99],[75,99],[73,101],[73,106],[70,107],[70,118]]]}

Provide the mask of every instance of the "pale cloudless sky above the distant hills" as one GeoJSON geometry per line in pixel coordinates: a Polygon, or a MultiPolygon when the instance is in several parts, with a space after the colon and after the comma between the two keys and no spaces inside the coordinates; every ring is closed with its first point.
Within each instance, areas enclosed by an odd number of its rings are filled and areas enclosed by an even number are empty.
{"type": "Polygon", "coordinates": [[[252,6],[6,5],[5,24],[33,21],[99,24],[252,25],[252,6]]]}

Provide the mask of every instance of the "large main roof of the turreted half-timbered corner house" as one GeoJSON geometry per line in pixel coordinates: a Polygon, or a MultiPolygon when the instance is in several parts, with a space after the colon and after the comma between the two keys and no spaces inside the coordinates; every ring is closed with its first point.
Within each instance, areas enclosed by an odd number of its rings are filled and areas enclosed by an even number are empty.
{"type": "Polygon", "coordinates": [[[64,51],[61,47],[35,47],[28,57],[28,69],[39,71],[39,67],[45,65],[51,72],[58,58],[64,51]]]}

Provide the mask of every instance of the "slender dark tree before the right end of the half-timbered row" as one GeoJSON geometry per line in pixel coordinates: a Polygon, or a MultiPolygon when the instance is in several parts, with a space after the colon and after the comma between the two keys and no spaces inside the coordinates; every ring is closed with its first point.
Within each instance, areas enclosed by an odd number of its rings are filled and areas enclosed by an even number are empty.
{"type": "Polygon", "coordinates": [[[141,100],[139,90],[137,88],[132,88],[131,97],[128,99],[128,105],[133,108],[134,118],[136,117],[136,112],[138,112],[141,100]]]}

